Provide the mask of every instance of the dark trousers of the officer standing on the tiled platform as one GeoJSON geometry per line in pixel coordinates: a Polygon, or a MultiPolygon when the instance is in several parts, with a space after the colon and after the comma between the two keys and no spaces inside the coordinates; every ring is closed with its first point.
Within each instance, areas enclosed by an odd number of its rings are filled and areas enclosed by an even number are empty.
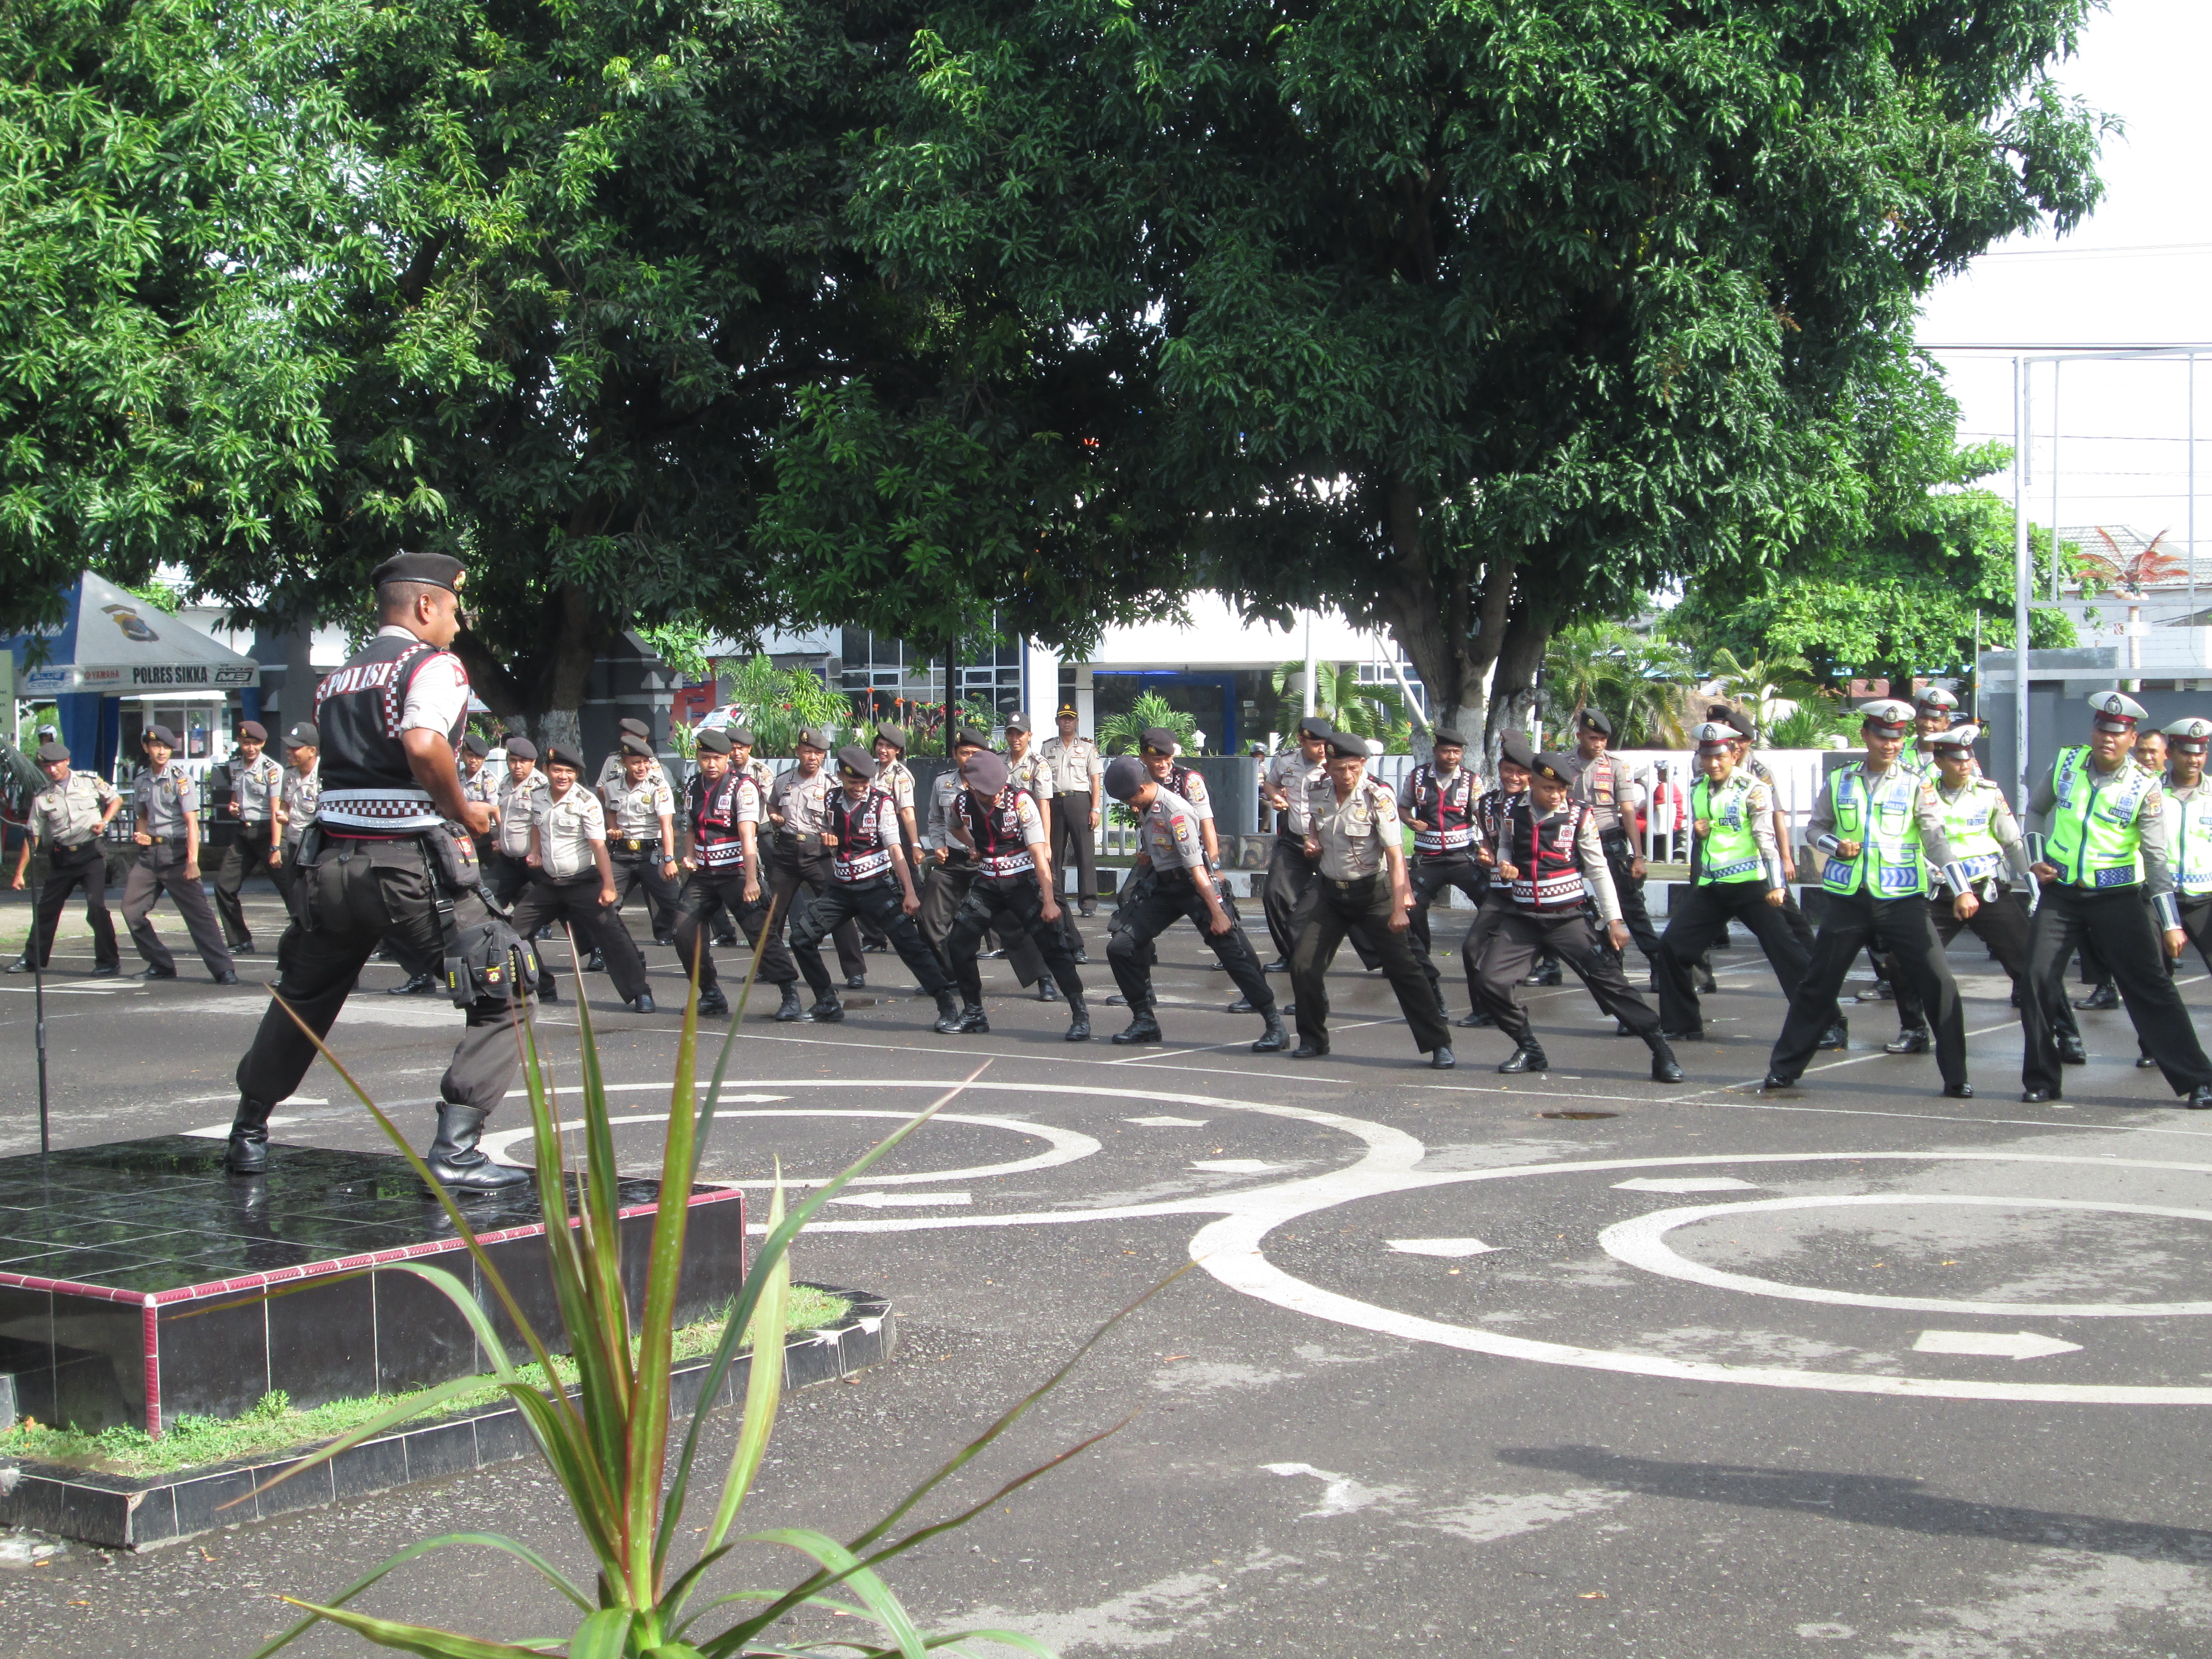
{"type": "MultiPolygon", "coordinates": [[[[418,960],[445,960],[431,874],[414,836],[330,838],[314,865],[292,869],[292,925],[276,945],[276,993],[319,1037],[330,1033],[380,938],[405,940],[418,960]]],[[[480,927],[487,918],[473,891],[453,900],[456,929],[480,927]]],[[[272,1004],[239,1062],[239,1093],[274,1106],[299,1088],[312,1064],[314,1044],[272,1004]]],[[[489,1113],[513,1084],[518,1064],[513,1004],[480,998],[469,1004],[467,1029],[438,1093],[489,1113]]]]}

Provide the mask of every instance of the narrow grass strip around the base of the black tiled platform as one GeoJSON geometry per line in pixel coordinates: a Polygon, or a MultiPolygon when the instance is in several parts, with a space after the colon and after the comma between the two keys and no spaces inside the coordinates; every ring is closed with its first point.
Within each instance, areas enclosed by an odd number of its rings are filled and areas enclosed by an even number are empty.
{"type": "MultiPolygon", "coordinates": [[[[783,1318],[787,1332],[812,1332],[834,1325],[852,1310],[843,1296],[832,1296],[818,1285],[792,1285],[792,1301],[783,1318]]],[[[684,1325],[675,1334],[675,1358],[697,1360],[714,1352],[721,1340],[728,1312],[684,1325]]],[[[745,1340],[752,1347],[752,1340],[745,1340]]],[[[522,1380],[544,1387],[544,1367],[515,1367],[522,1380]]],[[[575,1365],[566,1354],[553,1356],[553,1374],[562,1383],[575,1383],[575,1365]]],[[[416,1396],[427,1389],[416,1389],[416,1396]]],[[[31,1458],[38,1462],[75,1464],[104,1475],[166,1475],[177,1469],[199,1469],[212,1462],[237,1458],[281,1458],[290,1451],[307,1451],[325,1440],[336,1440],[358,1429],[380,1411],[405,1405],[407,1394],[372,1394],[358,1400],[332,1400],[294,1411],[283,1389],[261,1396],[261,1405],[234,1418],[177,1418],[168,1433],[155,1438],[144,1429],[102,1429],[84,1433],[69,1427],[58,1429],[46,1422],[20,1418],[13,1429],[0,1431],[0,1458],[31,1458]]],[[[469,1389],[451,1400],[431,1407],[427,1418],[451,1418],[482,1411],[502,1398],[500,1389],[484,1378],[484,1387],[469,1389]]]]}

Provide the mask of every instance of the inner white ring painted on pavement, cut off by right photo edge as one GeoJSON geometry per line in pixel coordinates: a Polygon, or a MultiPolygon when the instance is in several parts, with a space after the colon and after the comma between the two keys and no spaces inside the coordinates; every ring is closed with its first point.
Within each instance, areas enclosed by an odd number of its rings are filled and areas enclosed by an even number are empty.
{"type": "Polygon", "coordinates": [[[1836,1307],[1902,1307],[1916,1314],[1989,1314],[1993,1318],[2020,1318],[2037,1314],[2042,1318],[2177,1318],[2212,1314],[2212,1303],[1995,1303],[1955,1301],[1949,1296],[1874,1296],[1856,1290],[1827,1290],[1823,1285],[1790,1285],[1778,1279],[1754,1279],[1708,1267],[1690,1261],[1668,1245],[1666,1234],[1692,1221],[1714,1217],[1754,1214],[1761,1210],[1849,1210],[1860,1206],[1891,1203],[1975,1203],[1991,1208],[2033,1210],[2099,1210],[2117,1214],[2157,1214],[2181,1221],[2212,1221],[2212,1210],[2174,1210],[2163,1203],[2097,1203],[2090,1199],[2006,1199],[1964,1192],[1858,1192],[1818,1194],[1796,1199],[1754,1199],[1750,1203],[1705,1203],[1683,1210],[1652,1210],[1635,1221],[1619,1221],[1597,1234],[1597,1243],[1615,1261],[1630,1267],[1663,1274],[1666,1279],[1688,1279],[1692,1285],[1714,1285],[1717,1290],[1743,1290],[1754,1296],[1787,1296],[1801,1303],[1832,1303],[1836,1307]]]}

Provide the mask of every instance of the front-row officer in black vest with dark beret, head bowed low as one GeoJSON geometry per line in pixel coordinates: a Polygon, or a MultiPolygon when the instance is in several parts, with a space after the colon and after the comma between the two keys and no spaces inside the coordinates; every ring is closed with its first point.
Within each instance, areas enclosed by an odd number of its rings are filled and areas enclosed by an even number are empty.
{"type": "MultiPolygon", "coordinates": [[[[1060,900],[1053,894],[1053,854],[1046,847],[1044,814],[1029,790],[1006,776],[1006,761],[978,748],[960,763],[960,794],[949,810],[949,830],[973,860],[973,878],[945,938],[953,980],[960,984],[960,1031],[984,1033],[982,973],[975,958],[982,936],[1011,920],[1044,958],[1046,971],[1068,1000],[1068,1042],[1088,1042],[1091,1011],[1084,980],[1075,971],[1066,933],[1060,931],[1060,900]]],[[[1011,947],[1009,947],[1011,956],[1011,947]]]]}

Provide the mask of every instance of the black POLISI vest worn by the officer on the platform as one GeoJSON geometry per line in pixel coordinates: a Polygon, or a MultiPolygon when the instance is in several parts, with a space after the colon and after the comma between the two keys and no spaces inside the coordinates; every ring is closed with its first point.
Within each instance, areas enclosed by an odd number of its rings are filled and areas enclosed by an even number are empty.
{"type": "MultiPolygon", "coordinates": [[[[429,790],[416,783],[400,743],[407,688],[438,648],[420,639],[378,635],[314,692],[314,726],[323,737],[325,832],[338,836],[407,836],[445,823],[429,790]]],[[[447,732],[460,741],[467,708],[447,732]]]]}

